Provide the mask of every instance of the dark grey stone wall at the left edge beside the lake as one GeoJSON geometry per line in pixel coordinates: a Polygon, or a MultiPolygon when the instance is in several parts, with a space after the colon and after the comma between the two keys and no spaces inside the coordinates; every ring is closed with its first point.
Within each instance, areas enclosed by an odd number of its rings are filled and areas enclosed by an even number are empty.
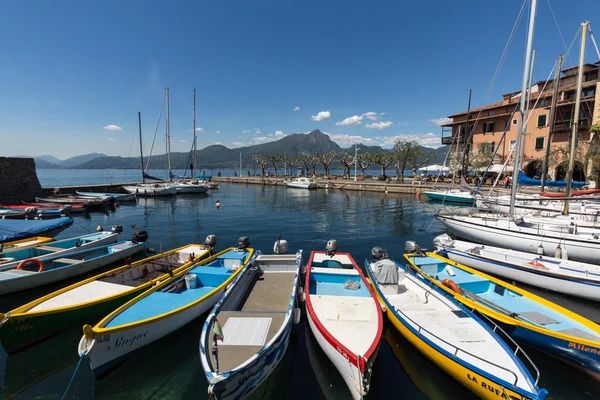
{"type": "Polygon", "coordinates": [[[41,191],[33,158],[0,157],[0,200],[29,199],[41,191]]]}

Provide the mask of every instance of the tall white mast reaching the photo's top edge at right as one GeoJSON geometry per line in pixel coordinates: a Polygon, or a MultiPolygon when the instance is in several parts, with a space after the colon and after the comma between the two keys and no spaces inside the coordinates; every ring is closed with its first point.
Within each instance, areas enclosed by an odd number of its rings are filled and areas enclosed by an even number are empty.
{"type": "Polygon", "coordinates": [[[531,66],[531,48],[533,45],[533,32],[535,30],[535,14],[537,12],[537,0],[531,0],[531,12],[529,15],[529,31],[527,32],[527,50],[525,52],[525,67],[523,68],[523,80],[521,82],[521,98],[519,99],[519,124],[517,143],[515,145],[515,166],[513,169],[513,182],[510,190],[510,215],[515,213],[515,198],[517,196],[517,185],[519,183],[519,171],[521,170],[521,141],[523,136],[523,118],[525,116],[525,103],[527,94],[527,81],[529,68],[531,66]]]}

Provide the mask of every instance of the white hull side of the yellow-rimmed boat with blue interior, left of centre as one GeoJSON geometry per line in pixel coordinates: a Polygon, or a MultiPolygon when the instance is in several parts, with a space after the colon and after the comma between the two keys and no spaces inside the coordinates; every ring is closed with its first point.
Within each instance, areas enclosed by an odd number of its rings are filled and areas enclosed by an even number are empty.
{"type": "MultiPolygon", "coordinates": [[[[119,329],[108,335],[98,336],[91,347],[88,347],[87,357],[96,379],[106,376],[112,369],[124,361],[127,356],[137,349],[181,328],[212,308],[223,295],[225,288],[214,292],[202,302],[180,313],[159,319],[149,324],[132,328],[119,329]]],[[[111,310],[112,311],[112,310],[111,310]]],[[[85,336],[82,337],[85,342],[85,336]]],[[[85,346],[82,344],[81,346],[85,346]]]]}

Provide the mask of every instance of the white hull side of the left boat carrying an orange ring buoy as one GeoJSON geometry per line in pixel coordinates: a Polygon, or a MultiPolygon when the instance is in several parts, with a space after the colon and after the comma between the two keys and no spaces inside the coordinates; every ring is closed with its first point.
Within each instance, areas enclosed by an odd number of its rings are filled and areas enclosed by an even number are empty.
{"type": "MultiPolygon", "coordinates": [[[[74,276],[82,275],[91,272],[97,268],[104,267],[108,264],[118,262],[139,251],[142,251],[143,243],[132,245],[128,248],[115,251],[102,257],[92,258],[88,261],[74,264],[72,266],[45,270],[31,275],[22,275],[16,279],[0,280],[0,294],[13,293],[20,290],[31,289],[37,286],[46,285],[53,282],[58,282],[74,276]]],[[[56,258],[56,255],[52,255],[56,258]]],[[[85,255],[84,255],[85,257],[85,255]]]]}

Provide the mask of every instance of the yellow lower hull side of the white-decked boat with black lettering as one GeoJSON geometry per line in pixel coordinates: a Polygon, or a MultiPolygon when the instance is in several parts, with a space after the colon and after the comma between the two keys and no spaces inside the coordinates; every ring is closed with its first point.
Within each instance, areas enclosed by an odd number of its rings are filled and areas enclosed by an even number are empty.
{"type": "MultiPolygon", "coordinates": [[[[377,295],[377,299],[385,304],[382,296],[379,294],[379,291],[375,287],[375,284],[371,282],[371,286],[375,294],[377,295]]],[[[492,382],[483,375],[466,368],[464,365],[454,361],[450,357],[445,356],[443,353],[434,349],[430,345],[428,345],[423,339],[421,339],[418,335],[414,334],[409,328],[407,328],[400,319],[394,315],[394,312],[390,309],[387,310],[386,313],[388,319],[392,323],[392,325],[400,332],[402,336],[406,338],[417,350],[419,350],[425,357],[431,360],[438,367],[443,369],[448,375],[452,376],[458,382],[460,382],[467,389],[475,393],[482,399],[521,399],[523,395],[512,391],[506,387],[501,386],[498,383],[492,382]],[[494,390],[492,391],[491,388],[494,390]],[[499,392],[499,394],[497,393],[499,392]],[[506,397],[503,396],[506,395],[506,397]]]]}

